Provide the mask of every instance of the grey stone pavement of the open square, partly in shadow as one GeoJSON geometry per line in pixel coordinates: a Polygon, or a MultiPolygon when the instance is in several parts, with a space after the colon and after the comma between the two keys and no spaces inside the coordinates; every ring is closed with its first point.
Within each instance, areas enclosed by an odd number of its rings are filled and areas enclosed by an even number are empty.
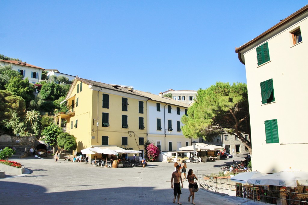
{"type": "MultiPolygon", "coordinates": [[[[187,164],[198,170],[216,170],[222,165],[242,160],[223,159],[199,164],[187,164]]],[[[150,162],[147,167],[102,168],[84,163],[26,157],[10,159],[24,165],[23,175],[0,179],[0,204],[112,204],[112,205],[172,205],[171,175],[173,163],[150,162]]],[[[212,171],[213,172],[213,171],[212,171]]],[[[214,171],[215,172],[215,171],[214,171]]],[[[188,182],[184,181],[180,202],[187,201],[188,182]]],[[[235,196],[212,193],[199,189],[196,204],[266,204],[235,196]]]]}

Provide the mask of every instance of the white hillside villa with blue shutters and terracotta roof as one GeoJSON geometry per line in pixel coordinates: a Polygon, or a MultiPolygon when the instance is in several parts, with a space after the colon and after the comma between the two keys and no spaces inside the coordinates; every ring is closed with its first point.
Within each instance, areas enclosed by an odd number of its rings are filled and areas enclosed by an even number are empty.
{"type": "Polygon", "coordinates": [[[9,64],[12,64],[12,69],[21,73],[24,76],[24,79],[28,77],[29,83],[35,84],[42,79],[43,68],[20,61],[0,60],[0,65],[2,66],[9,64]]]}

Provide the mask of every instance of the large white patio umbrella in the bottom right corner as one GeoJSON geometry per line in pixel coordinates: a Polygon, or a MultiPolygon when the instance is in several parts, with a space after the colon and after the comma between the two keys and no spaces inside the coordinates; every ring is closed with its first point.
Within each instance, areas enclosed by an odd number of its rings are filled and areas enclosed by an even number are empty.
{"type": "Polygon", "coordinates": [[[297,187],[297,185],[308,186],[308,172],[306,171],[280,171],[253,179],[248,179],[249,184],[274,185],[297,187]]]}

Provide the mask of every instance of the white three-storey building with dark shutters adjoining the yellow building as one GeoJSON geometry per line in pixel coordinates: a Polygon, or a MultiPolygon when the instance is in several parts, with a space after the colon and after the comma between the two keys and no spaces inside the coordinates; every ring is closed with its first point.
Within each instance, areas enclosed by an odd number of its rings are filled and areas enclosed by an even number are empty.
{"type": "MultiPolygon", "coordinates": [[[[183,135],[181,117],[187,113],[188,105],[162,95],[137,91],[149,98],[147,101],[148,140],[161,152],[180,151],[180,147],[191,145],[191,139],[183,135]]],[[[160,154],[159,161],[162,161],[160,154]]]]}

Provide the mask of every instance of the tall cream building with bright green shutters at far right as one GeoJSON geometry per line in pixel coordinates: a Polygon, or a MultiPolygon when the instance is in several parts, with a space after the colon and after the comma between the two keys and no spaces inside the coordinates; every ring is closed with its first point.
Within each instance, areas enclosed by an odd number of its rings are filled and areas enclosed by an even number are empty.
{"type": "Polygon", "coordinates": [[[308,5],[235,50],[246,68],[252,170],[308,171],[307,43],[308,5]]]}

